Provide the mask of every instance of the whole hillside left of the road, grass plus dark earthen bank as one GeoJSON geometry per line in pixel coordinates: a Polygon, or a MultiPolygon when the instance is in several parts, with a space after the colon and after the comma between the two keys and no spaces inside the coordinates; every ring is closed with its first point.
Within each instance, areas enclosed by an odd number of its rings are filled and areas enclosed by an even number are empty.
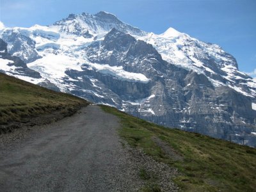
{"type": "Polygon", "coordinates": [[[0,73],[0,134],[22,124],[45,124],[73,114],[88,102],[0,73]]]}

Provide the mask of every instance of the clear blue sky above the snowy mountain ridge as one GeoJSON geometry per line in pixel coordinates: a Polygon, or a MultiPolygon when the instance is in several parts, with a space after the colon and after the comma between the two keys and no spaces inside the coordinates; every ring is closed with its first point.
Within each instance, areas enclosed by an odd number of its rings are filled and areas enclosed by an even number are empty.
{"type": "Polygon", "coordinates": [[[0,0],[5,26],[49,25],[69,13],[115,14],[145,31],[172,27],[232,54],[256,77],[256,0],[0,0]]]}

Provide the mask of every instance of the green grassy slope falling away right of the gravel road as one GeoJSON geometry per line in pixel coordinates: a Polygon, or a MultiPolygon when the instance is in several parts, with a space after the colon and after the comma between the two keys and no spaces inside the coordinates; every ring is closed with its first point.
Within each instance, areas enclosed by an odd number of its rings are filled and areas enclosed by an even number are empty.
{"type": "Polygon", "coordinates": [[[108,106],[102,106],[102,109],[120,118],[120,136],[132,147],[143,148],[157,161],[178,168],[181,175],[173,180],[184,191],[256,190],[255,148],[178,129],[166,129],[108,106]],[[152,140],[154,137],[168,143],[183,160],[175,161],[166,156],[152,140]]]}

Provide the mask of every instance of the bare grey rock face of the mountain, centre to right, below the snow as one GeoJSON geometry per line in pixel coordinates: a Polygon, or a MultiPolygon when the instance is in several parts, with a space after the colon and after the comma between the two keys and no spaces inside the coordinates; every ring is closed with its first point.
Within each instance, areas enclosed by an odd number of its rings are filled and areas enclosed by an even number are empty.
{"type": "MultiPolygon", "coordinates": [[[[132,115],[137,115],[138,111],[153,122],[159,121],[168,126],[176,124],[185,130],[192,129],[215,137],[221,135],[224,139],[236,132],[232,138],[237,140],[239,137],[236,134],[244,131],[244,124],[254,123],[256,113],[250,110],[252,97],[246,97],[228,86],[214,86],[203,74],[167,63],[152,45],[135,40],[130,35],[113,29],[102,42],[89,45],[84,50],[93,63],[121,65],[129,72],[140,72],[150,77],[147,84],[142,84],[147,92],[134,88],[131,94],[126,90],[117,92],[115,84],[109,87],[122,96],[122,109],[132,115]],[[95,58],[95,55],[98,57],[95,58]],[[134,97],[136,90],[145,95],[134,97]]],[[[104,79],[100,81],[105,82],[104,79]]]]}

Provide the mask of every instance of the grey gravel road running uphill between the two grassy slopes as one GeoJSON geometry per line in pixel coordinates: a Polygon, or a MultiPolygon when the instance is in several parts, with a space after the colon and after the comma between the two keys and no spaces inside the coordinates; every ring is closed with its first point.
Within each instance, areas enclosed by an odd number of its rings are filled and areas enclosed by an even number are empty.
{"type": "MultiPolygon", "coordinates": [[[[0,191],[138,191],[145,184],[138,174],[145,157],[124,147],[118,126],[116,116],[88,106],[1,145],[0,191]]],[[[147,166],[156,172],[169,169],[157,163],[147,166]]],[[[177,189],[171,182],[168,188],[177,189]]]]}

